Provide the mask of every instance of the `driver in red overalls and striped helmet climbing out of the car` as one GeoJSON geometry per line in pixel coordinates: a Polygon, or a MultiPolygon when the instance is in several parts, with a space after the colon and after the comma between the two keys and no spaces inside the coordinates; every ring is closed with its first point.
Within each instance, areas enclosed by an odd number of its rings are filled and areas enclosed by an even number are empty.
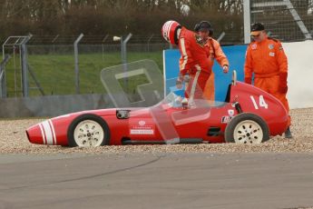
{"type": "MultiPolygon", "coordinates": [[[[180,74],[176,81],[177,88],[182,87],[185,75],[190,75],[190,82],[185,91],[189,104],[193,99],[203,98],[205,85],[211,74],[210,50],[206,41],[176,21],[166,22],[161,29],[164,39],[171,45],[179,45],[181,52],[180,74]]],[[[224,73],[228,73],[224,70],[224,73]]]]}

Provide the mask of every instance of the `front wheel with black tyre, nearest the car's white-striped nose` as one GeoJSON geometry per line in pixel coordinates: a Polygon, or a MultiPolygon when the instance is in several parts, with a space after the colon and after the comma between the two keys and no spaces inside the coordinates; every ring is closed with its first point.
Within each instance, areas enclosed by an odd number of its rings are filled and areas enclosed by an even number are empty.
{"type": "Polygon", "coordinates": [[[102,117],[82,114],[70,124],[67,137],[69,146],[96,147],[109,144],[110,131],[102,117]]]}

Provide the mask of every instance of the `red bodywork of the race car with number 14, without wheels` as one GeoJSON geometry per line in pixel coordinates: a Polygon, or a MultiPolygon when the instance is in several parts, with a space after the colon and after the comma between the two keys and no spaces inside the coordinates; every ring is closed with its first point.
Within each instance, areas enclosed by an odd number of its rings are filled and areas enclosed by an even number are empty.
{"type": "Polygon", "coordinates": [[[237,82],[236,85],[230,85],[227,103],[222,105],[184,110],[161,102],[147,108],[129,108],[131,112],[128,119],[118,119],[116,111],[119,109],[116,108],[83,111],[35,124],[26,133],[33,144],[68,145],[67,133],[73,120],[82,114],[96,114],[108,124],[112,145],[124,144],[123,142],[175,143],[175,140],[180,139],[224,143],[223,133],[228,119],[239,114],[234,105],[236,102],[240,104],[242,112],[263,118],[269,126],[270,135],[282,134],[287,129],[289,116],[279,100],[259,88],[237,82]]]}

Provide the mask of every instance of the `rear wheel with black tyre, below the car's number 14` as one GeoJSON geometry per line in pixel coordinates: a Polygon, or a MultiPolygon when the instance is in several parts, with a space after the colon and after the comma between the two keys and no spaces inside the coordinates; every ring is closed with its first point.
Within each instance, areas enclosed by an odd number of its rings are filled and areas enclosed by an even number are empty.
{"type": "Polygon", "coordinates": [[[230,120],[225,130],[225,141],[237,144],[261,144],[269,140],[269,127],[256,114],[242,113],[230,120]]]}

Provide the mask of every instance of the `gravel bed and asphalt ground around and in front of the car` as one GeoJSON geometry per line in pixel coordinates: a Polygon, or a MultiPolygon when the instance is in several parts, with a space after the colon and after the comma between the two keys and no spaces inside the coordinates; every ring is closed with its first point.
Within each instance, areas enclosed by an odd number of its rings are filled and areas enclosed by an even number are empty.
{"type": "Polygon", "coordinates": [[[313,108],[291,116],[293,140],[94,149],[29,144],[43,120],[3,120],[0,209],[308,208],[313,108]]]}

